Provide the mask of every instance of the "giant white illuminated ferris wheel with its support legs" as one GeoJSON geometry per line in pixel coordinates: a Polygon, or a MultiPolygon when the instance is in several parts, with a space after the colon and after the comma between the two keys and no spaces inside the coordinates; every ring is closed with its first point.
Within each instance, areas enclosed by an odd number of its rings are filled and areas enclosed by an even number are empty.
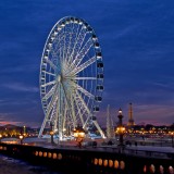
{"type": "Polygon", "coordinates": [[[101,48],[84,20],[66,16],[51,29],[40,64],[40,97],[45,119],[39,132],[51,124],[62,140],[77,125],[96,125],[103,91],[101,48]]]}

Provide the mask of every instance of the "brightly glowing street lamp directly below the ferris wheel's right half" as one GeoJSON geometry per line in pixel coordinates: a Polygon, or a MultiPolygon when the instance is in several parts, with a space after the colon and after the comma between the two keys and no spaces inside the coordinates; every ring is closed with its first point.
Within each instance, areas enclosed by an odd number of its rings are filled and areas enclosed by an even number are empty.
{"type": "Polygon", "coordinates": [[[74,137],[76,138],[76,141],[78,142],[78,147],[82,147],[82,142],[85,138],[85,130],[82,126],[77,125],[77,127],[74,129],[74,137]]]}

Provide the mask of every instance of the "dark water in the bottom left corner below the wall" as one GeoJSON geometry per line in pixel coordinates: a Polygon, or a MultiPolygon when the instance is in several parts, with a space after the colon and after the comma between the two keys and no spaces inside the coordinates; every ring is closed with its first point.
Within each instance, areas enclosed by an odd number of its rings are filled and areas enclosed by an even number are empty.
{"type": "Polygon", "coordinates": [[[0,154],[0,174],[65,174],[0,154]]]}

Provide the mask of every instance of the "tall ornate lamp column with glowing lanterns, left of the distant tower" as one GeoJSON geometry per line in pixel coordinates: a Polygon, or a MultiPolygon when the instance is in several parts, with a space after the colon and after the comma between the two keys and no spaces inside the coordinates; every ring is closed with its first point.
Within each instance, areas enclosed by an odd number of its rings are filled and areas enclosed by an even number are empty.
{"type": "Polygon", "coordinates": [[[119,138],[119,146],[123,147],[124,146],[124,144],[123,144],[123,135],[125,133],[125,127],[123,126],[123,123],[122,123],[123,114],[122,114],[122,110],[121,109],[119,110],[117,117],[119,117],[119,125],[117,125],[117,128],[116,128],[116,133],[120,136],[120,138],[119,138]]]}

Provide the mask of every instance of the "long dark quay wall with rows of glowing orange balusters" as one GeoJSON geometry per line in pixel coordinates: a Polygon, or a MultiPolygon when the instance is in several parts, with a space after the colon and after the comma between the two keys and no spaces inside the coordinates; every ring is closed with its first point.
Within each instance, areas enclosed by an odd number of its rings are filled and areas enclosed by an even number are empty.
{"type": "Polygon", "coordinates": [[[173,153],[9,144],[0,144],[0,153],[70,174],[174,174],[173,153]]]}

